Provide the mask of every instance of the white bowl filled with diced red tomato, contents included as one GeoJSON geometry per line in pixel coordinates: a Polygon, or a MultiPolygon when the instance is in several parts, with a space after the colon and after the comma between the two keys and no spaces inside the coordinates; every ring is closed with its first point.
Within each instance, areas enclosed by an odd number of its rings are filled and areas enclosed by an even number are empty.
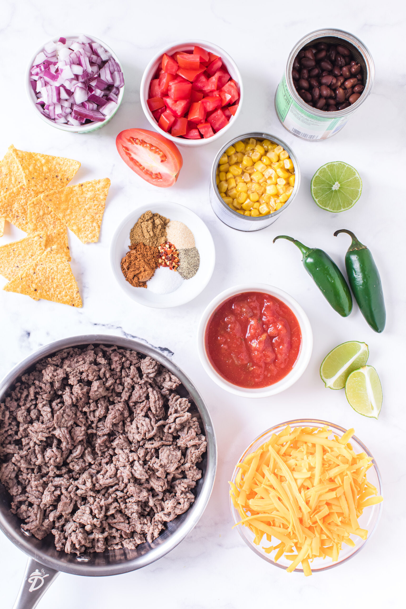
{"type": "Polygon", "coordinates": [[[236,63],[223,49],[187,40],[152,58],[140,96],[145,116],[159,133],[183,146],[201,146],[236,121],[243,87],[236,63]]]}

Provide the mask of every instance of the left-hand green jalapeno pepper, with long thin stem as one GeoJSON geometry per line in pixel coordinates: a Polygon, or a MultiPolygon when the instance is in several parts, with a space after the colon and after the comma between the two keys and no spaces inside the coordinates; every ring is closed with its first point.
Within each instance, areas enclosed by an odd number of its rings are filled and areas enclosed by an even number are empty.
{"type": "Polygon", "coordinates": [[[306,247],[300,241],[280,234],[276,239],[292,241],[301,251],[303,266],[315,281],[318,289],[323,293],[334,311],[342,317],[347,317],[352,311],[352,297],[347,282],[338,269],[337,264],[326,252],[315,247],[306,247]]]}

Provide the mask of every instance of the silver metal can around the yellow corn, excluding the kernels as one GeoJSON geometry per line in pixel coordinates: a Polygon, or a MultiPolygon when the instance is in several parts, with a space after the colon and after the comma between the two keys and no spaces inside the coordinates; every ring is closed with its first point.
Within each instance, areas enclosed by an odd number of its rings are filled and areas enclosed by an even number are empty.
{"type": "Polygon", "coordinates": [[[240,219],[243,218],[245,220],[250,220],[251,222],[258,222],[261,220],[262,220],[262,222],[264,222],[264,220],[268,219],[268,217],[272,217],[272,218],[279,217],[280,214],[282,213],[282,211],[284,211],[284,209],[290,205],[292,200],[295,199],[296,193],[299,190],[299,185],[300,185],[300,169],[299,169],[298,159],[297,159],[295,153],[293,152],[292,148],[283,141],[283,139],[279,138],[276,135],[271,135],[271,133],[264,133],[264,132],[256,131],[256,132],[252,132],[252,133],[243,133],[243,135],[239,135],[239,136],[234,137],[233,139],[230,139],[226,144],[223,144],[223,146],[220,148],[220,151],[215,156],[213,164],[212,164],[211,187],[212,187],[213,191],[215,192],[217,199],[220,201],[222,206],[227,211],[229,211],[229,213],[233,214],[234,216],[236,216],[240,219]],[[240,141],[240,139],[246,139],[246,138],[270,139],[270,141],[273,141],[276,144],[279,144],[279,146],[282,146],[287,152],[289,152],[289,157],[292,160],[293,166],[295,167],[295,186],[293,186],[292,194],[290,195],[287,202],[284,205],[282,205],[282,207],[280,209],[274,211],[271,214],[267,214],[266,216],[242,216],[242,214],[237,213],[237,211],[234,211],[234,209],[231,209],[228,205],[226,205],[226,203],[223,201],[222,197],[220,197],[219,189],[217,188],[217,184],[215,183],[215,174],[217,171],[217,166],[219,164],[219,160],[222,157],[223,153],[230,146],[232,146],[236,142],[240,141]]]}

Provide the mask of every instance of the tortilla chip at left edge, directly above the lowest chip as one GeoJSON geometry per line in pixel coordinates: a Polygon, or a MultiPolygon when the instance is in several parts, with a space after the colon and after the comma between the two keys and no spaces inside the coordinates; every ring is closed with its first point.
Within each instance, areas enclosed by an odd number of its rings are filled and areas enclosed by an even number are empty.
{"type": "Polygon", "coordinates": [[[45,235],[33,234],[0,247],[0,275],[10,280],[44,253],[45,235]]]}

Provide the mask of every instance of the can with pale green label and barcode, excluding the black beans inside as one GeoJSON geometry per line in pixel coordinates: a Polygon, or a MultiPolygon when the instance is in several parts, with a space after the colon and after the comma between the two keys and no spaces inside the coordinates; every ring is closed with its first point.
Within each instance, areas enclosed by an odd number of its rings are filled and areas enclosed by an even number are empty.
{"type": "Polygon", "coordinates": [[[310,32],[293,47],[287,61],[285,74],[276,90],[275,110],[279,121],[290,133],[298,138],[307,139],[307,141],[331,138],[344,127],[350,116],[365,102],[369,93],[371,93],[374,76],[375,68],[371,53],[358,38],[343,30],[326,29],[310,32]],[[292,69],[296,55],[301,49],[320,42],[344,44],[350,49],[354,59],[362,66],[362,84],[365,88],[355,104],[344,110],[326,112],[312,108],[304,102],[295,86],[293,86],[292,69]]]}

